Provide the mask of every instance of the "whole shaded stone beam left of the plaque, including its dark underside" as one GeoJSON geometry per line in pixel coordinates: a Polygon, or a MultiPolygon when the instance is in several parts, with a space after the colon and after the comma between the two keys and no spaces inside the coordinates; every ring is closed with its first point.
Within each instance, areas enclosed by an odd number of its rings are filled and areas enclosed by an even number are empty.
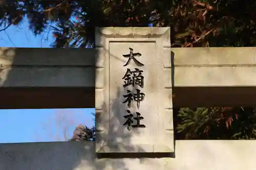
{"type": "Polygon", "coordinates": [[[0,109],[95,108],[95,59],[81,48],[0,48],[0,109]]]}

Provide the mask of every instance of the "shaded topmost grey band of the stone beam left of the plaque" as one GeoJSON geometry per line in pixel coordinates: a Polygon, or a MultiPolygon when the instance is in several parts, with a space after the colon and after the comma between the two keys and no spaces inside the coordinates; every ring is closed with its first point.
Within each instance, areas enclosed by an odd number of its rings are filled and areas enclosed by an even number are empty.
{"type": "Polygon", "coordinates": [[[93,66],[98,52],[92,48],[7,48],[0,47],[0,63],[35,66],[93,66]]]}

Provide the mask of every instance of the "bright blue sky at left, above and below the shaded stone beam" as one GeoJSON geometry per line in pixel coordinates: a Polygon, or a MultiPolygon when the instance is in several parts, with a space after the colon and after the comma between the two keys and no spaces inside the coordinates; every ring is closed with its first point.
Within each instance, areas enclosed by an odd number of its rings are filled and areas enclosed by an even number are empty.
{"type": "MultiPolygon", "coordinates": [[[[0,46],[50,47],[54,42],[51,31],[35,37],[28,28],[25,19],[22,25],[0,32],[0,46]]],[[[94,116],[91,113],[95,113],[95,109],[0,110],[0,143],[63,141],[63,132],[71,137],[79,123],[92,127],[94,116]]]]}

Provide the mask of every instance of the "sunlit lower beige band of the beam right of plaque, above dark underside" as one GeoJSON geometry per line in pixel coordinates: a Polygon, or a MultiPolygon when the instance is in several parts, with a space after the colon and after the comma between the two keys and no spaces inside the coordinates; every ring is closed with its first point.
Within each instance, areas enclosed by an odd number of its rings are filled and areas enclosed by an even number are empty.
{"type": "Polygon", "coordinates": [[[176,67],[175,87],[255,86],[256,67],[176,67]]]}

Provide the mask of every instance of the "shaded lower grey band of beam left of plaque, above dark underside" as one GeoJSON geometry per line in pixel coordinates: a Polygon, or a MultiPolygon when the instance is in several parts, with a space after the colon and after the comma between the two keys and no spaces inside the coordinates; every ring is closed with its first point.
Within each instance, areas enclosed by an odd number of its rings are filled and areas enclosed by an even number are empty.
{"type": "Polygon", "coordinates": [[[0,72],[2,87],[94,87],[94,67],[8,67],[0,72]]]}

